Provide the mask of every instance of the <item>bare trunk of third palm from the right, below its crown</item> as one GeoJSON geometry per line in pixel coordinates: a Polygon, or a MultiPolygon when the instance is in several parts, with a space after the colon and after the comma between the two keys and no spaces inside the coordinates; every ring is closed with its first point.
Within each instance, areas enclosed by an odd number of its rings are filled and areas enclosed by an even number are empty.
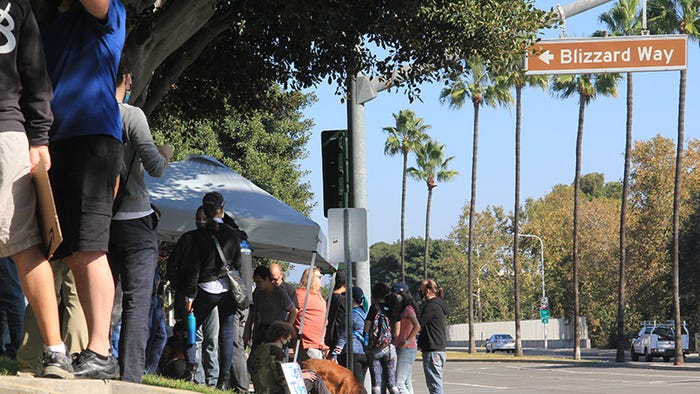
{"type": "Polygon", "coordinates": [[[574,256],[572,264],[572,281],[574,288],[574,360],[581,359],[581,326],[579,323],[578,303],[578,211],[581,194],[581,144],[583,143],[583,119],[585,110],[585,98],[579,95],[578,132],[576,133],[576,175],[574,176],[574,256]]]}

